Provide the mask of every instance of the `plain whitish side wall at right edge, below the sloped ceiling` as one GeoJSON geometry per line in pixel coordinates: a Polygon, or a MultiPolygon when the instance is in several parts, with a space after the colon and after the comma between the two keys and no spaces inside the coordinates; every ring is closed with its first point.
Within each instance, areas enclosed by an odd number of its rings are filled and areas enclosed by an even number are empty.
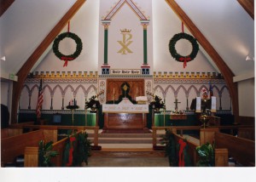
{"type": "Polygon", "coordinates": [[[239,116],[255,117],[254,78],[238,82],[239,116]]]}

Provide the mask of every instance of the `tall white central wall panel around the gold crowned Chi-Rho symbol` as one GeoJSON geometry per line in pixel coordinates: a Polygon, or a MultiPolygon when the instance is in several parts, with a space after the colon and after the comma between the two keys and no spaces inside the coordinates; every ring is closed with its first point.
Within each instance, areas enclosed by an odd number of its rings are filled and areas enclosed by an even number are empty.
{"type": "MultiPolygon", "coordinates": [[[[151,19],[152,5],[151,0],[145,4],[142,0],[134,1],[135,6],[140,9],[143,14],[151,19]]],[[[100,19],[106,16],[109,11],[113,9],[116,2],[104,2],[100,4],[100,19]],[[112,6],[113,4],[113,6],[112,6]]],[[[152,26],[147,27],[147,49],[148,49],[148,64],[153,67],[153,37],[152,37],[152,26]]],[[[103,64],[103,53],[104,53],[104,26],[99,28],[99,71],[100,66],[103,64]]],[[[141,25],[140,18],[137,16],[135,11],[131,7],[124,3],[122,7],[113,15],[108,26],[108,63],[113,68],[138,68],[143,65],[143,26],[141,25]],[[132,53],[130,54],[118,54],[120,44],[118,41],[122,41],[120,29],[131,30],[132,43],[129,44],[132,53]]]]}

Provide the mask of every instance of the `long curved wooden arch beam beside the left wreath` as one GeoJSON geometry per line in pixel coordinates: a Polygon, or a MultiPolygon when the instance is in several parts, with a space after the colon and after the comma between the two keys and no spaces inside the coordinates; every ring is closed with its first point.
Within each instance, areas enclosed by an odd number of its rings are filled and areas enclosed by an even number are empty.
{"type": "Polygon", "coordinates": [[[82,7],[86,0],[77,0],[76,3],[73,4],[73,7],[67,11],[61,20],[56,24],[56,26],[49,32],[49,34],[44,38],[43,42],[40,43],[38,48],[32,53],[32,55],[26,60],[26,63],[22,65],[20,71],[18,71],[18,82],[14,82],[13,84],[13,98],[12,98],[12,114],[11,114],[11,122],[17,122],[17,110],[18,103],[20,99],[21,89],[23,83],[26,80],[26,77],[31,71],[32,66],[38,61],[40,56],[44,54],[46,48],[49,47],[49,44],[52,43],[55,37],[61,32],[61,30],[67,25],[67,22],[72,19],[73,15],[82,7]]]}

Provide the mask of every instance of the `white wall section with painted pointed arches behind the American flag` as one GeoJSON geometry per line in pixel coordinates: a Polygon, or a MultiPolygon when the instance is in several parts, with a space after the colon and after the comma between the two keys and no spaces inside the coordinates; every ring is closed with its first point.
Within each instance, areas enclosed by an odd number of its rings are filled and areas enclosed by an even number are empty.
{"type": "MultiPolygon", "coordinates": [[[[51,93],[53,95],[52,109],[62,109],[62,97],[64,96],[64,110],[70,100],[73,100],[75,92],[75,99],[79,108],[84,110],[85,99],[89,99],[92,95],[96,94],[96,83],[44,83],[44,102],[42,105],[43,110],[50,110],[51,106],[51,93]],[[84,89],[83,89],[84,88],[84,89]],[[84,93],[85,90],[85,93],[84,93]]],[[[38,101],[38,83],[26,83],[21,91],[20,97],[20,110],[27,110],[29,105],[29,93],[31,93],[31,110],[36,109],[38,101]]]]}

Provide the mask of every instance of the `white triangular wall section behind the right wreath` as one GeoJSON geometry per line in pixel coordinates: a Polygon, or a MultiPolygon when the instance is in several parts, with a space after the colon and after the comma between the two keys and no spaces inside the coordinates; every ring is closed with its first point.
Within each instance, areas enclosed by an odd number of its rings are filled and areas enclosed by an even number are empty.
{"type": "MultiPolygon", "coordinates": [[[[182,32],[182,22],[165,1],[153,0],[153,20],[154,71],[201,71],[202,68],[204,71],[216,71],[215,66],[212,66],[212,63],[207,60],[201,51],[198,52],[195,60],[187,63],[185,69],[183,69],[183,63],[172,58],[168,45],[175,34],[182,32]],[[170,20],[172,20],[172,23],[170,23],[170,20]]],[[[184,32],[191,35],[185,26],[184,32]]],[[[188,42],[181,43],[180,46],[183,48],[178,53],[189,52],[191,46],[187,45],[188,42]]]]}

